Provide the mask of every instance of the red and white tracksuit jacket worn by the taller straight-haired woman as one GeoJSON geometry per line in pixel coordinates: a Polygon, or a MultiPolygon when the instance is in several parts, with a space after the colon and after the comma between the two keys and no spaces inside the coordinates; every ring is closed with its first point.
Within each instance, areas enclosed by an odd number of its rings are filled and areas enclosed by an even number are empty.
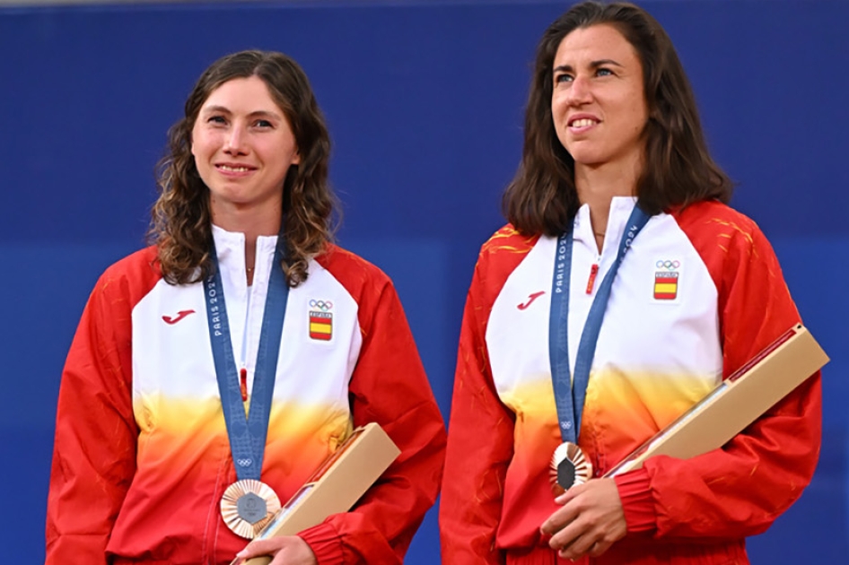
{"type": "MultiPolygon", "coordinates": [[[[589,208],[574,225],[569,358],[633,209],[611,204],[599,254],[589,208]],[[597,282],[586,292],[591,265],[597,282]]],[[[483,246],[460,335],[442,482],[442,561],[558,562],[539,526],[556,510],[549,462],[562,439],[548,359],[556,239],[511,226],[483,246]]],[[[728,206],[652,217],[613,285],[579,444],[597,475],[672,422],[799,322],[772,248],[728,206]]],[[[608,564],[748,563],[744,538],[766,528],[810,482],[821,425],[819,375],[721,449],[649,459],[617,477],[627,535],[608,564]]]]}

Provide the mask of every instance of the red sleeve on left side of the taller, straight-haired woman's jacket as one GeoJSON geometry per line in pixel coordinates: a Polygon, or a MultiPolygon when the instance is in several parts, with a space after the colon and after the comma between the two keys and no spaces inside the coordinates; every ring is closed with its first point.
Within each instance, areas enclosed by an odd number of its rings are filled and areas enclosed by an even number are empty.
{"type": "Polygon", "coordinates": [[[482,248],[468,291],[440,500],[443,563],[504,562],[503,552],[495,548],[495,533],[513,455],[514,415],[495,390],[486,323],[504,282],[530,247],[511,228],[498,231],[482,248]]]}

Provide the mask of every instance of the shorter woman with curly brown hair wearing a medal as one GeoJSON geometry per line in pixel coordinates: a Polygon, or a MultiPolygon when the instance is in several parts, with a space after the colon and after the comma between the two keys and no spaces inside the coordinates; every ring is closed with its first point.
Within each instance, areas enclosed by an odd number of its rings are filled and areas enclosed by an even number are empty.
{"type": "Polygon", "coordinates": [[[68,353],[47,562],[400,563],[444,425],[389,278],[330,241],[306,75],[280,53],[223,57],[169,141],[153,245],[101,276],[68,353]],[[354,509],[246,549],[367,422],[401,455],[354,509]]]}

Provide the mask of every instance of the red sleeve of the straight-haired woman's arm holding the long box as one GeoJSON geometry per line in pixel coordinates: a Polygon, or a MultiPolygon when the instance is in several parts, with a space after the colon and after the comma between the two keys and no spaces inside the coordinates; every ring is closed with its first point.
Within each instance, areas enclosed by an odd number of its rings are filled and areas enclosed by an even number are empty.
{"type": "MultiPolygon", "coordinates": [[[[679,222],[718,289],[723,373],[728,376],[800,317],[775,253],[754,222],[719,204],[712,205],[706,221],[693,210],[679,222]]],[[[689,460],[647,460],[630,483],[639,484],[642,475],[650,490],[642,496],[626,493],[633,504],[629,531],[700,539],[764,532],[809,484],[820,432],[817,372],[723,448],[689,460]],[[653,505],[656,524],[640,519],[645,517],[640,506],[646,504],[653,505]]]]}

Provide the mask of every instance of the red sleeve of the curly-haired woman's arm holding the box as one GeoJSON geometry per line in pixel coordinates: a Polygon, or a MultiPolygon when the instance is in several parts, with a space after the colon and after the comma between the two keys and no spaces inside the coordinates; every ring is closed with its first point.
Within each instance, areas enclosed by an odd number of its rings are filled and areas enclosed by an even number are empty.
{"type": "Polygon", "coordinates": [[[398,294],[371,269],[358,299],[363,346],[349,385],[354,426],[379,423],[401,454],[354,510],[300,534],[319,565],[402,563],[442,480],[442,414],[398,294]]]}

